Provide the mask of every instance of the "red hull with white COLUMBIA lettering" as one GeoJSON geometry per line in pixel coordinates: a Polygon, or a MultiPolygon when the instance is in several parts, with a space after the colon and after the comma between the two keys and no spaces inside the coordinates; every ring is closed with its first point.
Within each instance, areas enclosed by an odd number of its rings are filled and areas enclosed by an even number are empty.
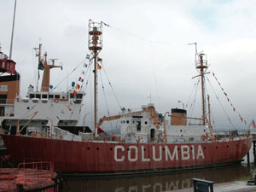
{"type": "Polygon", "coordinates": [[[96,143],[1,135],[14,158],[49,160],[61,172],[191,169],[240,161],[252,137],[217,143],[96,143]]]}

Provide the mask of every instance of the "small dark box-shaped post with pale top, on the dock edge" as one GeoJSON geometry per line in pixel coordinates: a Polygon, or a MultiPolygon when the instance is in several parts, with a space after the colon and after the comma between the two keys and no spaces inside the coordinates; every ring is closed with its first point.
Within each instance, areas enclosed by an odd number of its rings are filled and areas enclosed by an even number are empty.
{"type": "Polygon", "coordinates": [[[213,192],[214,182],[198,178],[192,178],[192,180],[194,185],[194,192],[213,192]]]}

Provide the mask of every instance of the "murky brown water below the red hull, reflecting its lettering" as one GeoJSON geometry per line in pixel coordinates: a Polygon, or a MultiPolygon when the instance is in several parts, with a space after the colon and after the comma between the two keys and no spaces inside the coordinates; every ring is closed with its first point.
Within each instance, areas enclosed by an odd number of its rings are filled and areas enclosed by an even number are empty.
{"type": "Polygon", "coordinates": [[[191,188],[193,184],[191,178],[194,177],[215,183],[226,183],[238,180],[241,177],[252,177],[252,173],[247,166],[238,165],[189,172],[122,177],[68,178],[62,183],[61,191],[158,192],[191,188]]]}

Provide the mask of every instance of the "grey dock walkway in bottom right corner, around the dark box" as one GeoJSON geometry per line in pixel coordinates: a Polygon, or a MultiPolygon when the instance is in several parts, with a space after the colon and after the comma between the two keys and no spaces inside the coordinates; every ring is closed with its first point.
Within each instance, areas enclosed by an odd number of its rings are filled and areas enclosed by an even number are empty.
{"type": "MultiPolygon", "coordinates": [[[[193,188],[178,189],[168,192],[193,192],[193,188]]],[[[214,192],[255,192],[256,185],[247,185],[247,181],[237,181],[232,183],[213,184],[214,192]]],[[[167,192],[167,191],[166,191],[167,192]]]]}

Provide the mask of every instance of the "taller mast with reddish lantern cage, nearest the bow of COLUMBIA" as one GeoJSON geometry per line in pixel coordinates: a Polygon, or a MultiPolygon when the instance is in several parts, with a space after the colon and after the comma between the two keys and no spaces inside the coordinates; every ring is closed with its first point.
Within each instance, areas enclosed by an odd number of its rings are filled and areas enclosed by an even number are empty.
{"type": "Polygon", "coordinates": [[[102,22],[89,20],[88,47],[94,59],[94,131],[97,135],[97,55],[102,50],[102,22]]]}

